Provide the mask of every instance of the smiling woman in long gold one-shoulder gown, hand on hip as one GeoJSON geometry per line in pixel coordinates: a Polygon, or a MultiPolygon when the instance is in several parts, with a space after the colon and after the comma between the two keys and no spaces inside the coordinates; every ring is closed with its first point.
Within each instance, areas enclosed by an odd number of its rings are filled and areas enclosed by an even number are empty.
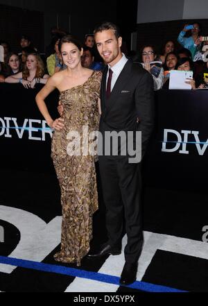
{"type": "Polygon", "coordinates": [[[82,67],[83,48],[70,35],[62,38],[60,51],[67,69],[51,76],[37,94],[36,101],[47,124],[55,129],[52,157],[61,187],[62,239],[61,250],[54,258],[58,262],[80,266],[83,257],[89,253],[92,216],[98,209],[95,156],[83,152],[83,149],[86,152],[83,127],[87,127],[89,133],[98,129],[102,73],[82,67]],[[64,112],[62,118],[54,121],[44,100],[55,88],[60,91],[64,112]],[[74,132],[78,133],[75,139],[74,132]],[[80,153],[73,151],[74,142],[82,144],[77,148],[80,153]]]}

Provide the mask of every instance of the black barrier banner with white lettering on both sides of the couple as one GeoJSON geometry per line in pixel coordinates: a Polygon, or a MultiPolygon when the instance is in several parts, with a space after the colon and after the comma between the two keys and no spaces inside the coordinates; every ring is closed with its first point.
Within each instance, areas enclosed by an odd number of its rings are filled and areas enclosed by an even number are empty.
{"type": "MultiPolygon", "coordinates": [[[[51,129],[35,103],[42,85],[0,84],[0,167],[54,171],[51,129]]],[[[46,99],[59,117],[59,92],[46,99]]],[[[207,90],[160,90],[155,93],[155,130],[144,158],[144,182],[151,187],[207,192],[207,90]]]]}

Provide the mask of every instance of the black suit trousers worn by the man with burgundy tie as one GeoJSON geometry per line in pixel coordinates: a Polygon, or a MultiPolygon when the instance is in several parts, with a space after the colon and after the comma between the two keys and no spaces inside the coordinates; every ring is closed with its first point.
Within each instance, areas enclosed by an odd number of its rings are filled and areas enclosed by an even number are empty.
{"type": "Polygon", "coordinates": [[[141,216],[141,164],[129,164],[128,157],[99,157],[103,198],[106,206],[108,243],[120,247],[123,210],[128,244],[126,262],[137,262],[143,246],[141,216]]]}

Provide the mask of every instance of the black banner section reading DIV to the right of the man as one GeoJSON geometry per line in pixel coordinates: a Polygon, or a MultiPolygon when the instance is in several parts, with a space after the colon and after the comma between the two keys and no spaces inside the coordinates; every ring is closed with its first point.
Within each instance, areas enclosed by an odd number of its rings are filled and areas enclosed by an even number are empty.
{"type": "Polygon", "coordinates": [[[145,159],[146,184],[207,192],[208,91],[159,90],[155,131],[145,159]]]}

